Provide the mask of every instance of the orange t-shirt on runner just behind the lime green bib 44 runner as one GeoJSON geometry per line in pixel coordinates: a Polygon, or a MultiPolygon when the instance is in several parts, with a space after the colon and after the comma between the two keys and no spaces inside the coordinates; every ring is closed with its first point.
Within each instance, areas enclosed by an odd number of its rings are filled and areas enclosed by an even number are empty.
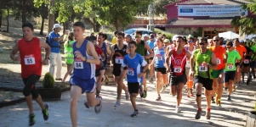
{"type": "Polygon", "coordinates": [[[217,69],[225,69],[224,56],[226,54],[225,47],[209,47],[209,50],[213,51],[217,59],[217,69]]]}

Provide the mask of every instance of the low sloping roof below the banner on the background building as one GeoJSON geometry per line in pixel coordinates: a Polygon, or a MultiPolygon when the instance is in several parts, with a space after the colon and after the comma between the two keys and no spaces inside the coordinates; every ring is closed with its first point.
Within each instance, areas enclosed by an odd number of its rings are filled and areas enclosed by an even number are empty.
{"type": "Polygon", "coordinates": [[[230,26],[232,19],[174,19],[171,22],[168,22],[168,27],[172,26],[230,26]]]}

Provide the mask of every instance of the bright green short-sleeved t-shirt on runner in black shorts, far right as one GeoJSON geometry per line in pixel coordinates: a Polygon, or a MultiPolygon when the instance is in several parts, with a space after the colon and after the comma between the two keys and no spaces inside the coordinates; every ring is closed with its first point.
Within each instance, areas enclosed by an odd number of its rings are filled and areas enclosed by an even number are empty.
{"type": "Polygon", "coordinates": [[[229,52],[227,50],[227,61],[225,63],[225,71],[236,71],[236,59],[241,59],[239,52],[235,50],[229,52]]]}

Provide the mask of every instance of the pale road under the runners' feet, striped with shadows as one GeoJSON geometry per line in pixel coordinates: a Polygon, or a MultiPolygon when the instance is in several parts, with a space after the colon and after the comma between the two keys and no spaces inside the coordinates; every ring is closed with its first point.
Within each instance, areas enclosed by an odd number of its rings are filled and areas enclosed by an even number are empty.
{"type": "MultiPolygon", "coordinates": [[[[78,102],[78,125],[88,127],[212,127],[212,126],[244,126],[247,111],[253,110],[256,95],[255,81],[249,86],[242,85],[236,90],[232,97],[232,102],[225,101],[226,91],[222,98],[222,108],[213,104],[212,118],[205,119],[205,112],[201,119],[194,119],[196,114],[195,97],[188,98],[183,94],[181,113],[175,113],[176,98],[169,95],[169,90],[162,94],[162,101],[156,102],[156,90],[153,84],[148,85],[148,97],[145,99],[137,97],[136,101],[139,107],[139,117],[131,118],[130,114],[134,112],[129,101],[124,99],[122,94],[122,105],[115,109],[116,86],[103,86],[101,93],[103,96],[103,109],[100,114],[94,113],[94,108],[87,109],[83,106],[85,95],[82,95],[78,102]]],[[[34,103],[34,110],[37,122],[35,127],[59,127],[71,126],[69,113],[70,92],[63,93],[61,100],[57,102],[47,102],[49,104],[49,119],[43,120],[41,109],[34,103]]],[[[202,96],[202,108],[205,111],[205,97],[202,96]]],[[[0,108],[0,126],[2,127],[24,127],[28,125],[28,108],[26,102],[0,108]]]]}

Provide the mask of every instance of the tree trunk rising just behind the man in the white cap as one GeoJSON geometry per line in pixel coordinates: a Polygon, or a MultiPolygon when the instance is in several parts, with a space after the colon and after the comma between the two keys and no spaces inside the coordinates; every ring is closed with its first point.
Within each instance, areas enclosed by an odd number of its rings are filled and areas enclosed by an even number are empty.
{"type": "Polygon", "coordinates": [[[51,32],[54,28],[54,13],[52,9],[54,8],[55,0],[49,0],[49,11],[48,11],[48,32],[51,32]]]}

